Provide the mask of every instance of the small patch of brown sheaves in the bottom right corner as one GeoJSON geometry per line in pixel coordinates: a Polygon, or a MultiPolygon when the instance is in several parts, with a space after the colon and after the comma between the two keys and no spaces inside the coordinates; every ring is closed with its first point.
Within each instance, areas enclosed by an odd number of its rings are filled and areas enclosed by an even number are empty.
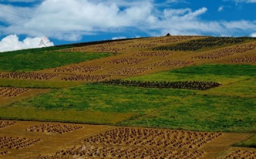
{"type": "Polygon", "coordinates": [[[228,155],[225,156],[227,159],[234,159],[234,158],[256,158],[256,150],[236,150],[228,155]]]}

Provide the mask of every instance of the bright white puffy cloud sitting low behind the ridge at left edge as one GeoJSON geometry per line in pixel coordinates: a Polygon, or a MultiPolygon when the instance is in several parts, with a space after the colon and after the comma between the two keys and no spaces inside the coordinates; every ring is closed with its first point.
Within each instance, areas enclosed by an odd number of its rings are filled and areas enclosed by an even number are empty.
{"type": "Polygon", "coordinates": [[[54,44],[49,41],[47,37],[27,37],[23,41],[19,41],[19,37],[17,35],[9,35],[0,41],[0,52],[50,47],[53,45],[54,44]]]}

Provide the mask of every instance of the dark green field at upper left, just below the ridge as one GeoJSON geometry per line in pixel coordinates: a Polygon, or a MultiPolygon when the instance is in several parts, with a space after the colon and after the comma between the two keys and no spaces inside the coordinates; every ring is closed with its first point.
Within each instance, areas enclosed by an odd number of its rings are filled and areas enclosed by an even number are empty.
{"type": "Polygon", "coordinates": [[[0,54],[0,70],[6,72],[28,72],[47,68],[56,68],[82,61],[108,57],[111,53],[60,52],[60,49],[27,49],[22,51],[3,52],[0,54]]]}

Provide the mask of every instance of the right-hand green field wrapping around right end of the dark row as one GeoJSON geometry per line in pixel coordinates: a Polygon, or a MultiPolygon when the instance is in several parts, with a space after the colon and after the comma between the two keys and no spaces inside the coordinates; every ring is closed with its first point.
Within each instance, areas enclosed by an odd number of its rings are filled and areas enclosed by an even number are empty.
{"type": "Polygon", "coordinates": [[[183,69],[170,70],[146,76],[131,77],[135,81],[212,81],[222,86],[200,91],[197,94],[256,97],[255,65],[204,64],[183,69]]]}

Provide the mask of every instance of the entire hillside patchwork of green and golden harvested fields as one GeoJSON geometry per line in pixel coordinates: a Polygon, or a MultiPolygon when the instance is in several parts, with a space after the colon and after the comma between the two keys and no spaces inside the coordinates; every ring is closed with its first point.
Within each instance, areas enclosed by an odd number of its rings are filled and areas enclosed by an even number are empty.
{"type": "Polygon", "coordinates": [[[162,36],[0,53],[0,158],[255,158],[255,44],[162,36]]]}

